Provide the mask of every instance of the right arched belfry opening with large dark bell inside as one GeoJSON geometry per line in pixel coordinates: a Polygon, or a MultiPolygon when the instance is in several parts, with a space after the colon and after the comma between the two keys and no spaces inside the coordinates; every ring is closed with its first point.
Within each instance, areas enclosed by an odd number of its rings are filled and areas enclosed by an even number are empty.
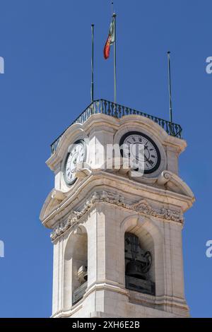
{"type": "Polygon", "coordinates": [[[125,232],[125,286],[129,290],[155,295],[155,259],[151,235],[139,227],[125,232]]]}

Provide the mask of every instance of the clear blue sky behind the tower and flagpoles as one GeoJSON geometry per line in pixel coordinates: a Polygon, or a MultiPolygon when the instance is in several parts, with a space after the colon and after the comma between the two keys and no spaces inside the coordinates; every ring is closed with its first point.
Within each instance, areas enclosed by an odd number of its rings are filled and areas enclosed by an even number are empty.
{"type": "MultiPolygon", "coordinates": [[[[212,316],[210,0],[114,0],[117,102],[168,119],[172,52],[174,121],[188,148],[180,176],[196,195],[183,231],[185,290],[192,316],[212,316]]],[[[109,0],[0,0],[0,316],[50,316],[52,244],[39,220],[54,186],[52,143],[90,103],[90,23],[95,23],[95,99],[112,100],[112,57],[102,49],[109,0]]]]}

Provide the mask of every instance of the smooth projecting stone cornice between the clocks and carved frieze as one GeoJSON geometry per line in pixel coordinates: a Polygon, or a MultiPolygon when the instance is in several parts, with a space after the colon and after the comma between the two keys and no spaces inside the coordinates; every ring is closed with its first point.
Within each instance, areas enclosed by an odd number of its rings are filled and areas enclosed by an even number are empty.
{"type": "Polygon", "coordinates": [[[97,171],[90,174],[90,176],[86,177],[81,182],[78,182],[74,190],[69,193],[69,196],[66,196],[61,203],[57,203],[47,215],[45,215],[45,209],[47,209],[47,207],[42,210],[42,214],[40,215],[42,224],[49,228],[54,227],[54,223],[57,223],[57,220],[64,218],[71,210],[76,210],[79,203],[83,201],[86,196],[89,197],[90,193],[96,191],[97,188],[102,190],[109,189],[117,193],[121,191],[124,196],[131,195],[131,197],[134,197],[134,201],[139,201],[139,198],[143,197],[143,199],[157,202],[158,206],[176,206],[183,212],[187,211],[194,202],[194,196],[190,197],[160,189],[159,187],[141,184],[139,182],[135,183],[133,180],[127,179],[126,177],[117,177],[115,174],[97,171]]]}

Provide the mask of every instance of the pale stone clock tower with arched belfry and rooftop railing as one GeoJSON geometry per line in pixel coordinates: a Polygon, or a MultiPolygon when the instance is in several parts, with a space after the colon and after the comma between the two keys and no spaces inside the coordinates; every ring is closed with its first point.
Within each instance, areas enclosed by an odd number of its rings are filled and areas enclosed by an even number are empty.
{"type": "Polygon", "coordinates": [[[182,228],[194,194],[178,175],[186,146],[178,124],[107,100],[52,143],[54,189],[40,213],[54,246],[52,317],[189,316],[182,228]],[[128,162],[139,144],[143,175],[128,162]]]}

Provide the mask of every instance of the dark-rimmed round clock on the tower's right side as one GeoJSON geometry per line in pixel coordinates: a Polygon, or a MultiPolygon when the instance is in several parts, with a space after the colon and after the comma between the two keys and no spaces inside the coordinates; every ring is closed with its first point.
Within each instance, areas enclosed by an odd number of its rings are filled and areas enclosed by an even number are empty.
{"type": "MultiPolygon", "coordinates": [[[[132,163],[139,162],[139,144],[144,147],[144,174],[155,172],[160,165],[160,151],[155,142],[146,134],[139,133],[139,131],[124,134],[119,143],[122,157],[130,158],[132,163]],[[131,148],[131,145],[135,145],[135,147],[131,148]]],[[[138,170],[138,164],[135,170],[138,170]]]]}

